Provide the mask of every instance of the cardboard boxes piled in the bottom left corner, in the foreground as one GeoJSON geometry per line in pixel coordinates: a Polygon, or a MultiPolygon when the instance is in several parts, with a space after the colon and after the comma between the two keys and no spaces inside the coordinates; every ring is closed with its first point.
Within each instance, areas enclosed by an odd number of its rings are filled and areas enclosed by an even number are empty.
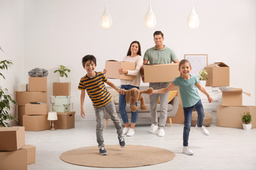
{"type": "Polygon", "coordinates": [[[24,127],[0,127],[0,169],[28,169],[35,163],[35,146],[25,145],[24,127]]]}

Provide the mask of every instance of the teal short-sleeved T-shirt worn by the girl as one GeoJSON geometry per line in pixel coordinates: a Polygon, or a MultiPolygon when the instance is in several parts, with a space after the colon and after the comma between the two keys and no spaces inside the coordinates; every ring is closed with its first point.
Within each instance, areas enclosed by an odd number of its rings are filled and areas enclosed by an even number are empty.
{"type": "Polygon", "coordinates": [[[173,83],[179,87],[182,107],[192,107],[200,101],[198,88],[195,86],[198,83],[197,76],[190,75],[190,78],[187,80],[179,76],[173,80],[173,83]]]}

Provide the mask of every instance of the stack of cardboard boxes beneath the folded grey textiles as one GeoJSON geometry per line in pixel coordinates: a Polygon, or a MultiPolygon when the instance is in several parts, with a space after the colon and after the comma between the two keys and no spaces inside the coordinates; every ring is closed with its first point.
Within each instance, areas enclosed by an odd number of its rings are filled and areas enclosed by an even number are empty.
{"type": "Polygon", "coordinates": [[[18,124],[24,126],[26,131],[49,129],[47,77],[29,77],[28,91],[26,88],[19,87],[16,92],[16,102],[18,103],[18,124]]]}

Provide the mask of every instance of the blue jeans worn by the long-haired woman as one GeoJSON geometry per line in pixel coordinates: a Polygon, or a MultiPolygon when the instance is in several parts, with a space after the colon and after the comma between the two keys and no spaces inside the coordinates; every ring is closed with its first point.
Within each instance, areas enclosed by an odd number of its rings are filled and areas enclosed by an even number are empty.
{"type": "MultiPolygon", "coordinates": [[[[131,85],[121,85],[121,88],[125,89],[125,90],[131,90],[132,88],[137,88],[139,89],[139,87],[136,86],[131,86],[131,85]]],[[[125,100],[126,95],[119,95],[119,112],[121,115],[121,118],[123,120],[123,124],[127,124],[128,121],[128,116],[127,116],[127,111],[125,109],[126,107],[126,100],[125,100]]],[[[135,102],[135,105],[137,106],[137,102],[135,102]]],[[[131,104],[130,104],[131,107],[131,104]]],[[[138,118],[138,110],[136,112],[131,112],[131,122],[133,124],[136,124],[137,122],[137,118],[138,118]]]]}

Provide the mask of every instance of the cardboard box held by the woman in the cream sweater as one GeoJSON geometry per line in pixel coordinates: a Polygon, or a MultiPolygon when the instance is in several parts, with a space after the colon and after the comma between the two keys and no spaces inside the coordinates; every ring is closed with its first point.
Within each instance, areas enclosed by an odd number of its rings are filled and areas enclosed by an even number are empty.
{"type": "Polygon", "coordinates": [[[105,64],[106,69],[106,77],[107,78],[115,78],[115,79],[123,79],[123,80],[133,80],[135,76],[131,75],[119,75],[118,69],[127,69],[127,70],[135,70],[135,63],[124,62],[124,61],[116,61],[116,60],[108,60],[105,64]]]}

